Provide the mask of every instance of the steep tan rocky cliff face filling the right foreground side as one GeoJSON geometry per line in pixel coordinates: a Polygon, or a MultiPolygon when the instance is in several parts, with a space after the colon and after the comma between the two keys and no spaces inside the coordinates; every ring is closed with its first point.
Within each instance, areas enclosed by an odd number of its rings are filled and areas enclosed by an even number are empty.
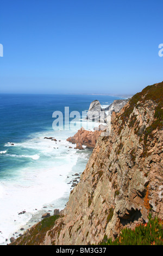
{"type": "Polygon", "coordinates": [[[162,92],[163,82],[146,87],[112,113],[110,136],[99,136],[66,208],[36,244],[97,244],[149,212],[163,218],[162,92]]]}

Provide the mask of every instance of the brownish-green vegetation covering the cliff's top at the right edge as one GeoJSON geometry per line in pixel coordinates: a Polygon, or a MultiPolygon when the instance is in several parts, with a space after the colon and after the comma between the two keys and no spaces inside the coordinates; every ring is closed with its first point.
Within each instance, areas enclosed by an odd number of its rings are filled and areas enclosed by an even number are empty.
{"type": "Polygon", "coordinates": [[[161,130],[163,127],[163,82],[147,86],[142,92],[131,97],[126,109],[120,115],[120,120],[122,124],[118,130],[118,134],[120,135],[126,123],[128,123],[129,128],[135,126],[135,135],[139,136],[139,142],[143,141],[143,153],[141,156],[146,157],[148,154],[148,138],[153,139],[153,132],[161,130]],[[147,105],[147,102],[151,112],[154,112],[154,119],[152,123],[148,119],[147,123],[149,123],[141,126],[140,121],[137,120],[137,116],[132,113],[134,108],[144,109],[142,114],[146,117],[147,111],[145,105],[147,105]],[[131,118],[130,114],[132,114],[131,118]],[[128,122],[129,118],[131,120],[128,122]]]}

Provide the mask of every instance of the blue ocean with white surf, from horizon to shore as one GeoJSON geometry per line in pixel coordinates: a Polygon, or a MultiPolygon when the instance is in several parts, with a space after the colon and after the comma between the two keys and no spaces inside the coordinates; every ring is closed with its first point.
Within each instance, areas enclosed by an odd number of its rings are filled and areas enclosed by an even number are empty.
{"type": "Polygon", "coordinates": [[[53,215],[55,208],[64,209],[74,174],[84,171],[92,153],[87,148],[74,149],[75,145],[66,139],[82,126],[93,130],[98,125],[82,118],[82,111],[87,111],[91,101],[96,99],[105,107],[120,98],[0,94],[1,245],[40,221],[45,212],[53,215]],[[78,111],[81,117],[70,129],[71,118],[63,121],[64,130],[52,127],[53,112],[60,111],[64,115],[65,107],[69,107],[70,113],[78,111]],[[54,137],[57,142],[45,137],[54,137]]]}

